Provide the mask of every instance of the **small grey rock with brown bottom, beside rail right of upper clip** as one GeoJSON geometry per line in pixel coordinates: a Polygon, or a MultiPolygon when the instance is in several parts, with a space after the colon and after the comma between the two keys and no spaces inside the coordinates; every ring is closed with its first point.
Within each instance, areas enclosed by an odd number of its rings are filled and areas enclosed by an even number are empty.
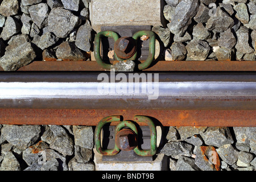
{"type": "Polygon", "coordinates": [[[175,42],[171,46],[172,50],[172,60],[174,61],[181,61],[184,60],[187,54],[187,49],[181,42],[175,42]]]}

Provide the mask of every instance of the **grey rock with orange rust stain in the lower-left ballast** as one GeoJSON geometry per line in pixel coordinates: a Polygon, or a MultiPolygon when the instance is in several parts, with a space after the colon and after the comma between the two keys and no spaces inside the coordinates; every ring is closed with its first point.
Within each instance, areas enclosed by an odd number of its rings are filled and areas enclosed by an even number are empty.
{"type": "Polygon", "coordinates": [[[26,148],[22,153],[22,158],[28,166],[31,166],[32,164],[39,162],[42,151],[46,148],[49,148],[49,145],[40,140],[38,143],[26,148]]]}

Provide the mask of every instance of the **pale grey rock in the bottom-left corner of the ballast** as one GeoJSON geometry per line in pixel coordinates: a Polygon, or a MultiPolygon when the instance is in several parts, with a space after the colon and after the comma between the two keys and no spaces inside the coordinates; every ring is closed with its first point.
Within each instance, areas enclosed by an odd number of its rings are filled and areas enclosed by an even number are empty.
{"type": "Polygon", "coordinates": [[[12,152],[7,152],[3,157],[0,171],[20,171],[20,164],[12,152]]]}

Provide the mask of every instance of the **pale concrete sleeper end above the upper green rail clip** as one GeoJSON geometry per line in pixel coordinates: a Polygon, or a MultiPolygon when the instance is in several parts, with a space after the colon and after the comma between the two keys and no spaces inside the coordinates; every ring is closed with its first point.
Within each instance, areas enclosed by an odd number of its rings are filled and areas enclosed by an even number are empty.
{"type": "Polygon", "coordinates": [[[163,26],[164,0],[92,0],[89,4],[92,28],[100,32],[101,26],[163,26]]]}

